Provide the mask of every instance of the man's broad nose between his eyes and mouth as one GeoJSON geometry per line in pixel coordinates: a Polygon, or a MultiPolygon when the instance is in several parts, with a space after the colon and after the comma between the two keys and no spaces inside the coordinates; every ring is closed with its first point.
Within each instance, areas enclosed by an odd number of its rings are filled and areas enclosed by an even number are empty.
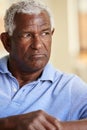
{"type": "Polygon", "coordinates": [[[32,40],[32,43],[31,43],[31,47],[33,49],[39,49],[42,47],[42,39],[41,37],[39,36],[39,34],[36,34],[35,36],[33,36],[33,40],[32,40]]]}

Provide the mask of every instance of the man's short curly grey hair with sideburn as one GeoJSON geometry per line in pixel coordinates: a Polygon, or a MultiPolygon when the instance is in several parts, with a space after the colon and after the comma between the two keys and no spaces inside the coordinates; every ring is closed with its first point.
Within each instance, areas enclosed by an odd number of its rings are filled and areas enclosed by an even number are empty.
{"type": "Polygon", "coordinates": [[[17,3],[13,3],[12,6],[6,11],[4,17],[5,31],[8,32],[9,35],[13,34],[15,29],[14,16],[16,13],[38,14],[42,10],[45,10],[48,13],[51,22],[51,28],[54,28],[52,14],[46,5],[36,0],[21,0],[17,3]]]}

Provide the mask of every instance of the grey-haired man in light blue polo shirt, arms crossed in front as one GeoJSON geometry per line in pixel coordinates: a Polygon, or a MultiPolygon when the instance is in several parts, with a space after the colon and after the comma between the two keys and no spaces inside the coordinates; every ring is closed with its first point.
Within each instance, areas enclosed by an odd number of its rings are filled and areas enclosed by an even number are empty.
{"type": "Polygon", "coordinates": [[[0,59],[1,130],[86,130],[87,84],[49,64],[53,19],[36,0],[6,12],[0,59]]]}

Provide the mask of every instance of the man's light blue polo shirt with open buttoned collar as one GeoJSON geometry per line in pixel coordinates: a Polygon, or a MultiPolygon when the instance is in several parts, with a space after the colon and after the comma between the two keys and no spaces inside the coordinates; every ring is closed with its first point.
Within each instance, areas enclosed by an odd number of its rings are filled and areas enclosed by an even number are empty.
{"type": "Polygon", "coordinates": [[[87,84],[78,76],[47,64],[38,80],[19,88],[7,59],[0,60],[0,118],[40,109],[63,121],[87,118],[87,84]]]}

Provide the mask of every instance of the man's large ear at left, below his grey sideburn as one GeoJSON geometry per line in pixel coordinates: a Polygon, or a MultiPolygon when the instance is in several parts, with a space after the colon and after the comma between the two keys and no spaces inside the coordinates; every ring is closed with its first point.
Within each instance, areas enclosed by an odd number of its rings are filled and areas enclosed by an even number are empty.
{"type": "Polygon", "coordinates": [[[1,33],[0,39],[1,39],[2,43],[3,43],[4,48],[8,52],[10,52],[10,50],[11,50],[11,42],[10,41],[11,40],[10,40],[10,36],[8,35],[8,33],[7,32],[1,33]]]}

